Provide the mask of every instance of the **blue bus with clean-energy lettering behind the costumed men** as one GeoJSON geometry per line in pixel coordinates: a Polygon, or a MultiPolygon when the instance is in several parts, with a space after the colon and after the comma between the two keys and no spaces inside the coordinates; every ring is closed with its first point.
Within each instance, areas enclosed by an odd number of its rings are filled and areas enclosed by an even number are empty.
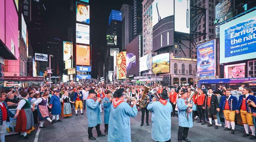
{"type": "Polygon", "coordinates": [[[253,90],[254,95],[256,95],[256,77],[207,79],[198,81],[198,87],[201,88],[201,86],[204,85],[206,89],[210,87],[212,90],[218,90],[220,86],[224,86],[233,91],[238,91],[241,84],[245,84],[245,87],[253,90]]]}

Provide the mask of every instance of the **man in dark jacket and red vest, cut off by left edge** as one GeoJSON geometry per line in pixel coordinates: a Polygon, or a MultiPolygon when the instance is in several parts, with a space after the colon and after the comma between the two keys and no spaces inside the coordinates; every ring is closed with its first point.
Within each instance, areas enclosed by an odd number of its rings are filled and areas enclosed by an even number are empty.
{"type": "Polygon", "coordinates": [[[0,142],[5,142],[6,122],[10,122],[10,117],[14,117],[4,102],[5,95],[6,93],[0,93],[0,142]]]}

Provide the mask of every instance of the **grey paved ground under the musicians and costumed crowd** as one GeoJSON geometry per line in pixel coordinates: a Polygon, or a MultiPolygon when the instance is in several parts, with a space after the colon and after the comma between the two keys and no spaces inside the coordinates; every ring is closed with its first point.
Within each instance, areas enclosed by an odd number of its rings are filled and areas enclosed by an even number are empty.
{"type": "MultiPolygon", "coordinates": [[[[86,113],[84,113],[86,114],[86,113]]],[[[104,117],[103,112],[102,120],[104,117]]],[[[146,117],[146,116],[145,116],[146,117]]],[[[146,119],[146,118],[145,118],[146,119]]],[[[107,137],[97,138],[97,132],[94,128],[92,130],[96,140],[88,140],[87,133],[87,117],[86,115],[73,116],[68,119],[61,117],[62,122],[50,124],[45,122],[44,126],[47,128],[40,129],[38,142],[107,142],[107,137]]],[[[151,138],[151,128],[141,123],[141,111],[138,112],[137,117],[131,118],[131,141],[132,142],[155,142],[151,138]]],[[[146,123],[146,122],[145,122],[146,123]]],[[[149,123],[151,123],[151,113],[149,113],[149,123]]],[[[207,124],[206,124],[207,125],[207,124]]],[[[215,130],[214,127],[208,128],[206,125],[200,125],[194,122],[194,126],[190,128],[188,139],[192,142],[255,142],[256,140],[250,140],[249,137],[241,137],[243,135],[243,127],[236,126],[235,134],[230,134],[230,131],[223,131],[224,127],[219,127],[215,130]]],[[[6,136],[6,142],[37,142],[35,139],[36,130],[28,134],[29,140],[23,139],[18,134],[12,136],[6,136]]],[[[104,132],[104,124],[100,125],[100,130],[104,132]]],[[[172,132],[171,141],[177,142],[178,131],[178,117],[172,117],[172,132]]]]}

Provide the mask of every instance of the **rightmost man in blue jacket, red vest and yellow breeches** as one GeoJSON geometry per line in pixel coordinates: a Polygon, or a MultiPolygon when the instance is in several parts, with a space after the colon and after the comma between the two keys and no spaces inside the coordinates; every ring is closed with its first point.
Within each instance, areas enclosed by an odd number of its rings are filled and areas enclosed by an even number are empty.
{"type": "Polygon", "coordinates": [[[256,103],[256,98],[255,96],[249,94],[249,88],[243,88],[242,94],[243,95],[239,96],[237,107],[236,107],[237,114],[241,113],[243,126],[245,127],[245,134],[243,134],[242,137],[249,136],[249,127],[250,127],[252,132],[250,139],[256,139],[255,128],[253,125],[253,113],[256,113],[256,110],[251,109],[251,107],[249,107],[247,103],[248,100],[256,103]]]}

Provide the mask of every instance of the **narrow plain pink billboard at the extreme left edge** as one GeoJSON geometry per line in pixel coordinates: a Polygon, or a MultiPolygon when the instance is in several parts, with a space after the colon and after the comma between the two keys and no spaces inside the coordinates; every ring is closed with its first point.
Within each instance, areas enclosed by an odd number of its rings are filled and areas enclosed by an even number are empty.
{"type": "Polygon", "coordinates": [[[5,0],[0,0],[0,40],[5,44],[5,0]]]}

